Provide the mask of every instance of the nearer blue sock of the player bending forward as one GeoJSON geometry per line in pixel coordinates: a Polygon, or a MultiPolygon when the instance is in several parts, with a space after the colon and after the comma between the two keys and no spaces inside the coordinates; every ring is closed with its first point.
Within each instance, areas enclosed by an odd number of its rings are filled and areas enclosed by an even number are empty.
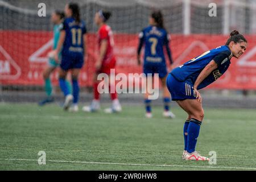
{"type": "Polygon", "coordinates": [[[195,151],[197,138],[199,136],[201,122],[191,118],[188,125],[188,146],[187,151],[192,153],[195,151]]]}

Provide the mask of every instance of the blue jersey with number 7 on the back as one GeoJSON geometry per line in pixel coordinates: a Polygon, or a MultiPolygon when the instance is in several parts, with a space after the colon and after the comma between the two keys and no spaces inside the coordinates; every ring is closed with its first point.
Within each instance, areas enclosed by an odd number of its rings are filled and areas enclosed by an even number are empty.
{"type": "MultiPolygon", "coordinates": [[[[148,26],[142,30],[139,38],[145,45],[144,64],[166,65],[163,46],[167,47],[167,52],[170,51],[168,47],[170,35],[167,34],[167,31],[156,26],[148,26]]],[[[172,63],[171,56],[169,56],[169,59],[172,63]]]]}

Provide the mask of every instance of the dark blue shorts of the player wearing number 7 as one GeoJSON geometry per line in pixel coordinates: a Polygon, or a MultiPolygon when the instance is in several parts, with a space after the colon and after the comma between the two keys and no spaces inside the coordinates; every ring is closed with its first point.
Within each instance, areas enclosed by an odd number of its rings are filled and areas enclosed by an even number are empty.
{"type": "Polygon", "coordinates": [[[143,73],[147,74],[151,73],[154,76],[154,73],[159,74],[159,78],[163,78],[167,75],[166,65],[163,64],[144,64],[143,65],[143,73]]]}

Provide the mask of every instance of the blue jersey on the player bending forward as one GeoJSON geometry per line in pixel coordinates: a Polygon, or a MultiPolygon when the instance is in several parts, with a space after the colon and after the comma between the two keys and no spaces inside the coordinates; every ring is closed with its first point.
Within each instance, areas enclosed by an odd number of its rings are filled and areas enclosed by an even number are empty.
{"type": "Polygon", "coordinates": [[[178,81],[189,81],[193,85],[196,78],[199,76],[201,71],[205,68],[210,61],[214,60],[218,67],[206,77],[197,89],[202,89],[208,86],[212,82],[220,78],[226,70],[229,68],[230,59],[232,58],[232,52],[228,46],[220,46],[210,51],[203,53],[200,56],[189,60],[187,63],[180,65],[179,67],[172,70],[171,75],[174,76],[178,81]]]}

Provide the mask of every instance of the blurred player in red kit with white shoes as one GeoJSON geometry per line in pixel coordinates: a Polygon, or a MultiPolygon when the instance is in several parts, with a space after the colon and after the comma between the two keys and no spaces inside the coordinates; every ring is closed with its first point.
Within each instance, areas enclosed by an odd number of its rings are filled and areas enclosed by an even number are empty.
{"type": "MultiPolygon", "coordinates": [[[[95,14],[94,22],[99,27],[98,29],[98,48],[99,48],[99,56],[96,61],[95,67],[96,67],[96,73],[94,74],[94,99],[92,101],[92,104],[90,106],[84,106],[83,110],[87,112],[97,111],[100,109],[100,93],[98,92],[98,84],[100,83],[97,80],[97,76],[100,73],[106,73],[107,75],[110,75],[110,69],[115,68],[115,57],[113,53],[113,46],[114,46],[114,39],[113,39],[113,32],[106,24],[108,19],[110,18],[111,13],[108,11],[98,11],[95,14]]],[[[119,100],[117,98],[117,92],[115,88],[110,89],[111,87],[114,87],[114,84],[110,82],[109,80],[109,93],[110,98],[112,100],[112,107],[105,109],[106,113],[115,113],[122,110],[122,107],[119,103],[119,100]],[[114,93],[111,93],[110,90],[114,90],[114,93]]]]}

